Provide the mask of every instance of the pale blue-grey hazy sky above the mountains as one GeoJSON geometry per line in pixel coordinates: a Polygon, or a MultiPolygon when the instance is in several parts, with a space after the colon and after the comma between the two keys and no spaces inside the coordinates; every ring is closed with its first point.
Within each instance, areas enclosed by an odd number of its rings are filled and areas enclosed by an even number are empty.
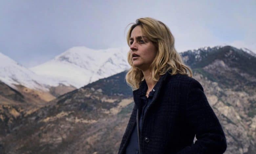
{"type": "Polygon", "coordinates": [[[165,23],[179,52],[216,45],[256,52],[255,0],[1,0],[0,52],[32,67],[74,46],[123,47],[126,26],[140,17],[165,23]]]}

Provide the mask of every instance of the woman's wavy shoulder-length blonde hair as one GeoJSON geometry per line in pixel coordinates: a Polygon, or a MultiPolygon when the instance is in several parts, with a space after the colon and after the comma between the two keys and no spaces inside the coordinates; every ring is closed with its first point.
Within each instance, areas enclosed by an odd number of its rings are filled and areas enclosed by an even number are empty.
{"type": "MultiPolygon", "coordinates": [[[[193,76],[192,70],[184,64],[180,54],[174,48],[174,36],[164,23],[148,17],[137,19],[127,33],[126,39],[129,46],[132,30],[136,26],[140,26],[143,36],[146,36],[158,49],[157,55],[150,65],[151,77],[154,81],[158,81],[160,76],[168,70],[171,70],[171,75],[177,73],[188,75],[189,71],[189,76],[193,76]]],[[[135,90],[139,88],[144,76],[142,71],[133,65],[130,51],[127,59],[131,68],[125,76],[126,83],[135,90]]]]}

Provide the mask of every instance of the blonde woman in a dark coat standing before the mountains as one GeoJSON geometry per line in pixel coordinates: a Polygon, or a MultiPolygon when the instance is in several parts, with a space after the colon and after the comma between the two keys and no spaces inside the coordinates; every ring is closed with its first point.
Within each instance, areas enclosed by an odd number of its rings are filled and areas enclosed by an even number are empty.
{"type": "Polygon", "coordinates": [[[175,50],[168,27],[152,18],[137,19],[127,42],[131,68],[126,82],[135,105],[118,154],[224,153],[222,126],[175,50]]]}

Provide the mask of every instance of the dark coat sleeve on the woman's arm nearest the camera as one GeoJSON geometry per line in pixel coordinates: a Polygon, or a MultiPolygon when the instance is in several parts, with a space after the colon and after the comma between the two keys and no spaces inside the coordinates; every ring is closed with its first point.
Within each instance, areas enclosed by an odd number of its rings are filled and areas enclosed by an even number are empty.
{"type": "Polygon", "coordinates": [[[186,98],[186,120],[197,141],[177,154],[222,154],[227,148],[222,126],[209,105],[201,84],[192,80],[186,98]]]}

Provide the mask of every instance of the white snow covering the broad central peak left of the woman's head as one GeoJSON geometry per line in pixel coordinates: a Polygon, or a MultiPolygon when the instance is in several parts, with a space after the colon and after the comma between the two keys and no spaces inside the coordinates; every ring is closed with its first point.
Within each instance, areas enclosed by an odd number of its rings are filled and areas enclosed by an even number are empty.
{"type": "Polygon", "coordinates": [[[79,88],[130,68],[127,62],[128,51],[129,48],[94,50],[73,47],[30,69],[38,75],[79,88]]]}

